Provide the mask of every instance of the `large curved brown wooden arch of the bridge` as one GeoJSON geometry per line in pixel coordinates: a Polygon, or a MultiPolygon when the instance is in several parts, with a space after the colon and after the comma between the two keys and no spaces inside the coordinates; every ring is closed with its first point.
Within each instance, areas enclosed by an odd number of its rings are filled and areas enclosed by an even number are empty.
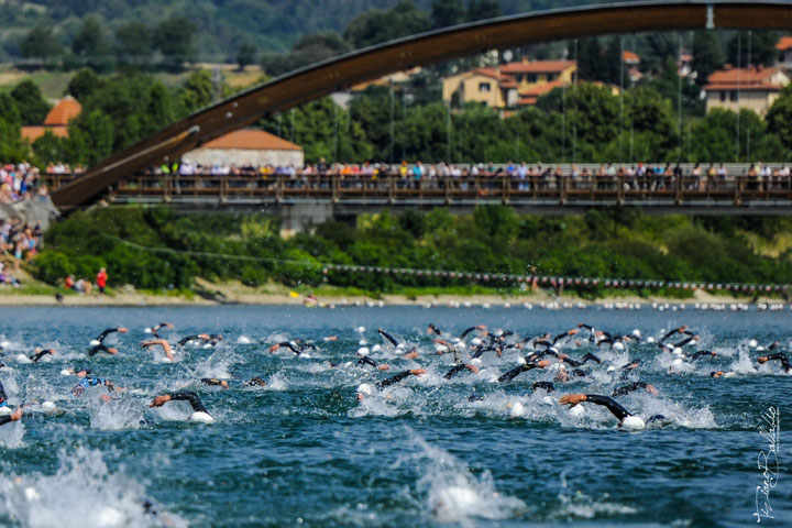
{"type": "MultiPolygon", "coordinates": [[[[59,186],[52,194],[53,202],[63,212],[86,206],[125,178],[177,160],[270,113],[394,72],[490,50],[568,37],[716,28],[789,30],[792,4],[773,1],[617,3],[504,16],[392,41],[293,72],[196,112],[59,186]]],[[[514,202],[517,197],[512,197],[510,186],[504,189],[508,189],[508,199],[514,202]]],[[[570,196],[551,199],[569,204],[570,196]]]]}

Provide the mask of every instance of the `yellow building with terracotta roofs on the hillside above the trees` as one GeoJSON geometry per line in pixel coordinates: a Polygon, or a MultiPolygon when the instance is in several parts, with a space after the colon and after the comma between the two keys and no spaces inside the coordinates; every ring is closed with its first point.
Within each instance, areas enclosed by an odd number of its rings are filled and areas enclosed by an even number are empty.
{"type": "Polygon", "coordinates": [[[443,102],[479,102],[497,109],[534,105],[540,95],[574,82],[576,70],[574,61],[522,61],[473,68],[443,79],[443,102]]]}

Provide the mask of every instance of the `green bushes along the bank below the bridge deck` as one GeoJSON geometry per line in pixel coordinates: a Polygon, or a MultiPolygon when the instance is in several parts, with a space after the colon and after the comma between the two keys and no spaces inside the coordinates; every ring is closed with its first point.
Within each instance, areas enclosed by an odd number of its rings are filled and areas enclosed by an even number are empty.
{"type": "MultiPolygon", "coordinates": [[[[321,263],[509,274],[529,274],[536,267],[546,275],[789,284],[791,251],[770,257],[754,248],[773,248],[776,234],[791,227],[783,217],[661,218],[619,209],[536,217],[492,206],[469,216],[452,216],[444,209],[362,216],[355,226],[329,221],[312,234],[283,240],[277,220],[271,217],[100,209],[76,212],[52,227],[34,272],[41,279],[61,284],[66,275],[92,277],[98,267],[108,266],[114,284],[152,289],[189,288],[196,276],[240,279],[252,286],[270,280],[316,286],[327,279],[330,285],[378,293],[464,284],[416,275],[333,271],[324,276],[321,263]],[[218,256],[164,255],[119,239],[218,256]],[[755,244],[757,240],[760,244],[755,244]],[[229,254],[261,261],[223,257],[229,254]]],[[[581,287],[580,293],[597,296],[605,292],[591,286],[581,287]]]]}

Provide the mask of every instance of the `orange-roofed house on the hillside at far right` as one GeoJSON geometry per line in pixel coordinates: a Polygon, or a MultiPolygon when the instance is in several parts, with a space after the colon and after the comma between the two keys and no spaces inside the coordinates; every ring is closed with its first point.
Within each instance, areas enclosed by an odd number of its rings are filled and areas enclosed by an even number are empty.
{"type": "Polygon", "coordinates": [[[704,87],[706,110],[725,108],[732,111],[747,108],[765,116],[778,99],[781,89],[790,84],[790,76],[779,67],[732,68],[713,72],[704,87]]]}

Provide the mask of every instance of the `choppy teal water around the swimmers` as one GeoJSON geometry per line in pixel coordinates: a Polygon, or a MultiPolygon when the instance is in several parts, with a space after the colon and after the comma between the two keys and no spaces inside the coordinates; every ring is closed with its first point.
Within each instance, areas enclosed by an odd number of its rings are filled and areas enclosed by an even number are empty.
{"type": "MultiPolygon", "coordinates": [[[[768,449],[761,416],[781,416],[781,468],[770,491],[769,526],[792,526],[792,482],[785,425],[792,416],[792,377],[778,362],[758,367],[748,345],[792,343],[790,312],[656,312],[597,309],[286,307],[211,308],[14,308],[2,309],[8,341],[0,372],[12,404],[52,400],[56,413],[32,405],[20,424],[0,427],[0,525],[2,526],[754,526],[756,487],[763,482],[757,457],[768,449]],[[163,364],[139,342],[143,329],[172,343],[199,332],[222,333],[216,349],[176,349],[163,364]],[[652,383],[657,396],[618,399],[634,414],[662,414],[663,427],[628,433],[604,408],[584,406],[575,417],[557,399],[565,393],[609,395],[623,382],[607,365],[586,367],[584,381],[557,383],[557,392],[531,393],[531,383],[553,380],[532,371],[507,385],[491,380],[517,365],[521,353],[483,356],[477,375],[446,381],[450,355],[436,355],[427,336],[435,322],[458,334],[472,324],[514,330],[520,337],[557,333],[585,321],[614,333],[638,328],[644,336],[689,324],[697,349],[715,359],[669,374],[671,359],[657,345],[597,352],[612,364],[641,359],[630,380],[652,383]],[[127,334],[107,342],[118,356],[87,358],[89,341],[108,327],[127,334]],[[359,327],[365,327],[359,332],[359,327]],[[376,328],[418,345],[421,358],[398,359],[376,328]],[[246,337],[252,342],[240,344],[246,337]],[[324,341],[338,336],[337,341],[324,341]],[[310,358],[271,354],[286,339],[314,340],[310,358]],[[372,356],[389,373],[354,364],[359,340],[380,343],[372,356]],[[19,353],[52,346],[46,362],[23,364],[19,353]],[[331,367],[330,362],[339,363],[331,367]],[[351,362],[348,364],[348,362],[351,362]],[[129,391],[113,395],[90,387],[78,398],[74,376],[62,369],[88,366],[129,391]],[[363,402],[355,387],[399,370],[426,367],[384,394],[363,402]],[[736,372],[712,378],[710,372],[736,372]],[[265,388],[243,387],[252,376],[265,388]],[[227,377],[231,388],[200,385],[227,377]],[[165,391],[196,391],[217,422],[188,422],[189,407],[169,403],[148,409],[165,391]],[[481,400],[470,402],[472,393],[481,400]],[[522,417],[509,418],[520,403],[522,417]],[[148,501],[156,515],[146,513],[148,501]]],[[[569,346],[579,358],[593,345],[569,346]]]]}

